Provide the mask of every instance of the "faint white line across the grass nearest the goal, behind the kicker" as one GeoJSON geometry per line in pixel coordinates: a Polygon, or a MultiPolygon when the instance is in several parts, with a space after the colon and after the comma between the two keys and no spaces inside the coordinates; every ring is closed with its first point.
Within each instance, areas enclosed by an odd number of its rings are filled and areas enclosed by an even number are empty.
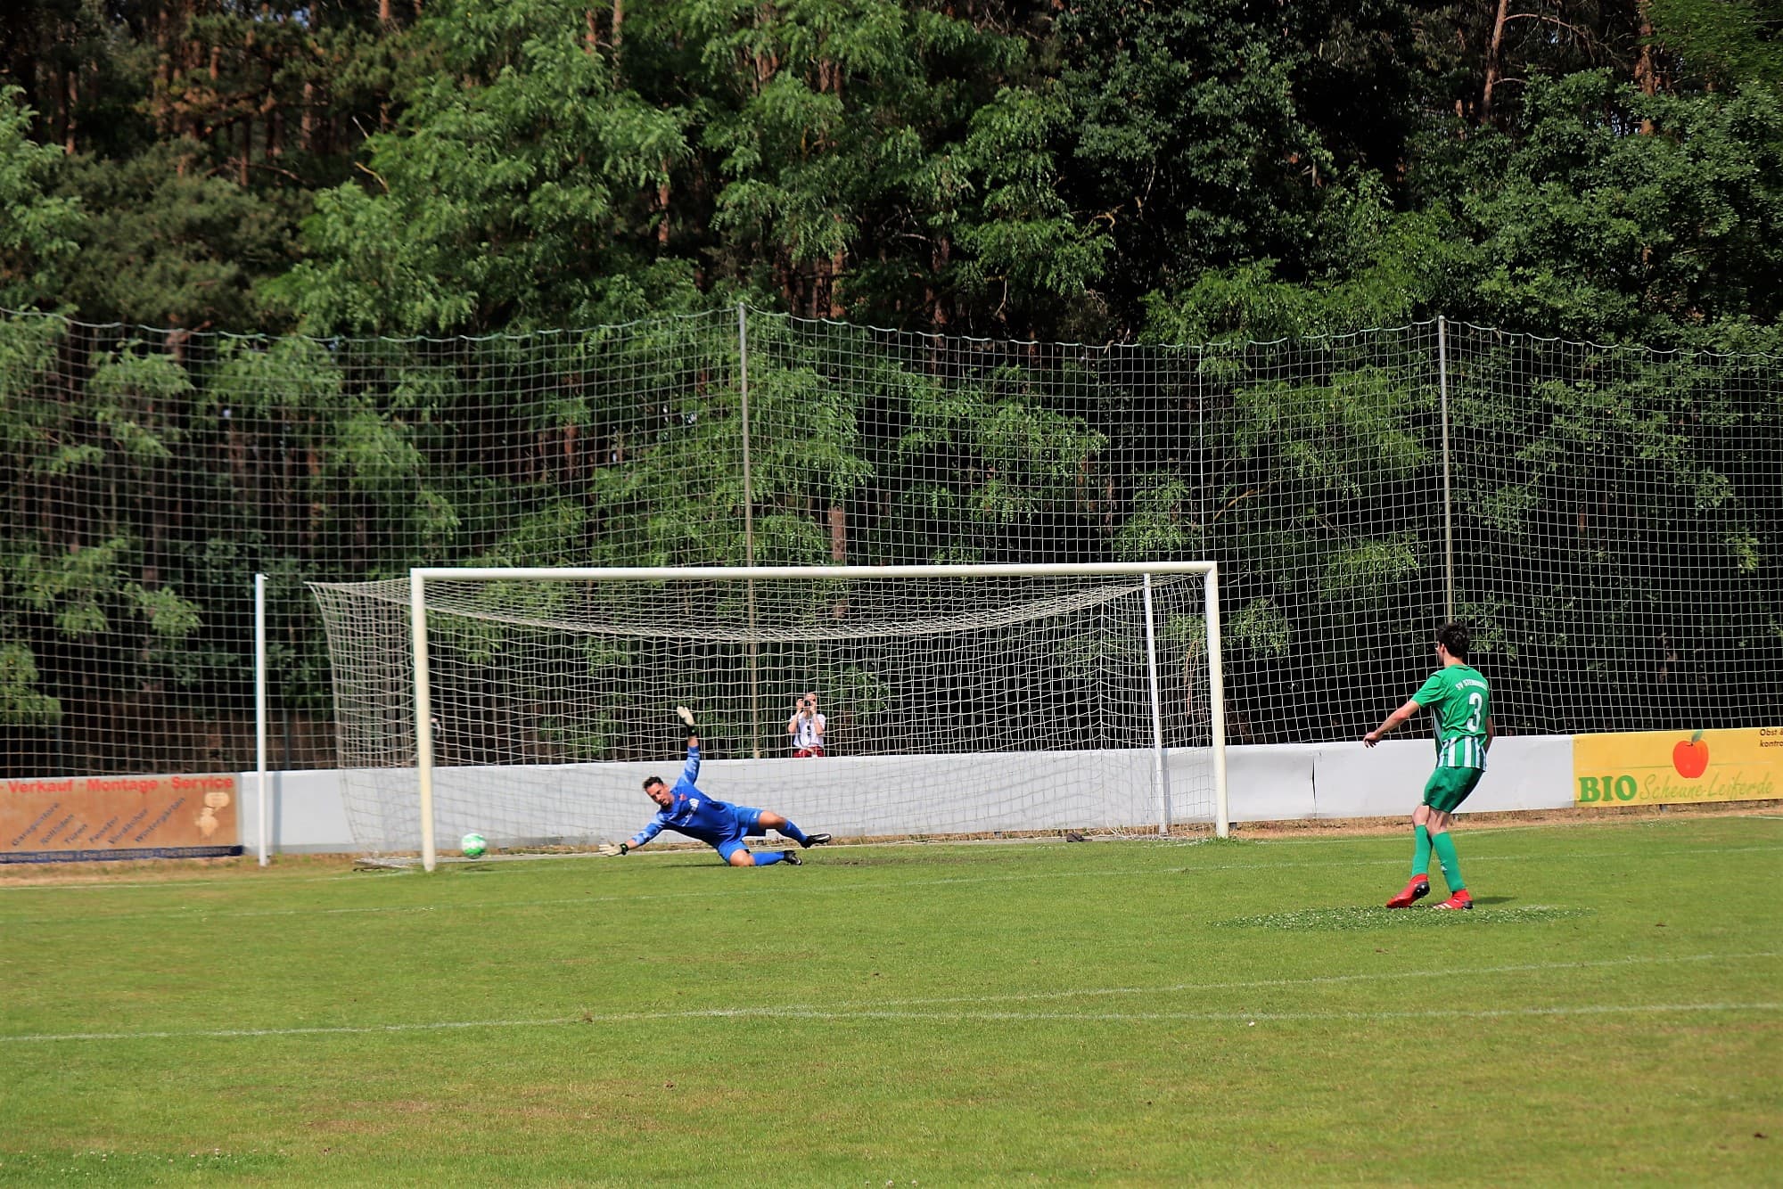
{"type": "MultiPolygon", "coordinates": [[[[1701,849],[1681,849],[1669,850],[1669,856],[1685,854],[1754,854],[1754,852],[1779,852],[1783,845],[1774,847],[1701,847],[1701,849]]],[[[1585,852],[1585,854],[1467,854],[1469,870],[1478,863],[1592,863],[1608,859],[1640,859],[1649,857],[1651,852],[1640,850],[1603,850],[1603,852],[1585,852]]],[[[715,861],[717,863],[717,861],[715,861]]],[[[776,895],[785,897],[790,891],[801,891],[804,895],[811,893],[874,893],[883,895],[888,891],[900,890],[922,890],[922,888],[956,888],[972,884],[1011,884],[1011,882],[1029,882],[1036,879],[1123,879],[1123,877],[1143,877],[1143,875],[1204,875],[1204,873],[1225,873],[1225,872],[1291,872],[1291,870],[1311,870],[1311,868],[1337,868],[1337,866],[1380,866],[1384,859],[1312,859],[1296,863],[1209,863],[1195,866],[1111,866],[1111,868],[1077,868],[1077,870],[1045,870],[1045,872],[1020,872],[1009,875],[949,875],[943,879],[922,879],[908,882],[884,882],[884,881],[861,881],[847,884],[820,884],[820,886],[788,886],[785,881],[797,879],[797,875],[767,875],[761,877],[765,882],[752,886],[726,888],[722,895],[776,895]]],[[[731,875],[729,879],[752,879],[751,875],[731,875]]],[[[553,907],[562,904],[645,904],[651,900],[688,900],[701,898],[710,900],[713,897],[711,888],[699,888],[688,891],[644,891],[644,893],[606,893],[606,895],[587,895],[587,897],[555,897],[549,900],[478,900],[467,904],[374,904],[362,907],[291,907],[291,909],[210,909],[201,906],[175,906],[168,909],[152,909],[143,913],[107,913],[102,916],[87,916],[80,922],[70,922],[68,918],[50,918],[50,916],[0,916],[0,923],[5,925],[96,925],[102,922],[114,920],[144,920],[144,918],[177,918],[177,920],[219,920],[219,918],[251,918],[251,916],[339,916],[355,913],[478,913],[478,911],[508,911],[508,909],[533,909],[533,907],[553,907]]],[[[1489,911],[1489,909],[1487,909],[1489,911]]]]}

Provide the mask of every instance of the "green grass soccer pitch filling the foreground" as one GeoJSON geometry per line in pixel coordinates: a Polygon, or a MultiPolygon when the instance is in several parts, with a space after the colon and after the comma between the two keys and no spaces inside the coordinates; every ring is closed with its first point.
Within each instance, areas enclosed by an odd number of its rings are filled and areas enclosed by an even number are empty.
{"type": "Polygon", "coordinates": [[[4,872],[0,1184],[1778,1184],[1783,820],[1457,838],[4,872]]]}

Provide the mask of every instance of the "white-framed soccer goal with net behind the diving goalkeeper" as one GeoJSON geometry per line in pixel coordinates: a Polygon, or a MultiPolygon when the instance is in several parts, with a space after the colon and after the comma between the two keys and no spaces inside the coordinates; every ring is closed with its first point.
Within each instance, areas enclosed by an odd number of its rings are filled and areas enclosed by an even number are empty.
{"type": "Polygon", "coordinates": [[[644,777],[681,772],[678,704],[703,790],[838,838],[1225,832],[1212,563],[426,569],[312,590],[367,852],[619,841],[654,813],[644,777]],[[806,693],[824,758],[793,758],[806,693]]]}

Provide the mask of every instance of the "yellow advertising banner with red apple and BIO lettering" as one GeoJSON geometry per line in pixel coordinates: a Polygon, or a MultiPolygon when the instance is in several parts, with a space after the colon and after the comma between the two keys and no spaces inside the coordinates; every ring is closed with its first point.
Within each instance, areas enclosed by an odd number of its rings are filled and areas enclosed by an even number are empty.
{"type": "Polygon", "coordinates": [[[1582,806],[1676,806],[1783,797],[1783,727],[1573,736],[1582,806]]]}

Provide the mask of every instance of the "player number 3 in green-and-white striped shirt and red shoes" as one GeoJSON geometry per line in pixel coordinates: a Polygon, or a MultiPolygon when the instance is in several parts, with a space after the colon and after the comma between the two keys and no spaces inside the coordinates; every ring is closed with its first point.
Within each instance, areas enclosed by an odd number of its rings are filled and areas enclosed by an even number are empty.
{"type": "Polygon", "coordinates": [[[1412,811],[1416,849],[1412,852],[1412,879],[1400,895],[1387,900],[1389,909],[1410,907],[1414,900],[1430,895],[1430,852],[1435,850],[1448,881],[1450,898],[1439,909],[1471,909],[1473,897],[1460,877],[1455,857],[1455,840],[1450,822],[1460,802],[1480,783],[1485,772],[1485,749],[1492,745],[1492,688],[1478,668],[1467,665],[1471,640],[1460,624],[1442,624],[1437,629],[1437,660],[1442,668],[1412,693],[1405,706],[1387,715],[1387,720],[1362,736],[1364,747],[1373,747],[1401,722],[1428,709],[1437,720],[1437,767],[1425,784],[1425,799],[1412,811]]]}

